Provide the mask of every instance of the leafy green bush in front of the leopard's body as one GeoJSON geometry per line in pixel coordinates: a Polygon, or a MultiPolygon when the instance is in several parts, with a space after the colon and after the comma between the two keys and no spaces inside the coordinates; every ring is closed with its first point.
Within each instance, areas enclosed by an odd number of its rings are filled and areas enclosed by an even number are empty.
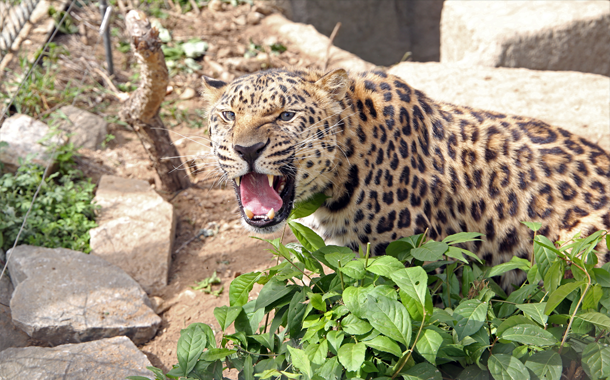
{"type": "Polygon", "coordinates": [[[610,264],[596,267],[595,255],[603,239],[610,245],[607,231],[557,244],[535,235],[531,261],[491,268],[462,248],[480,233],[424,233],[357,258],[295,220],[324,199],[291,215],[299,244],[268,240],[277,265],[232,281],[230,304],[214,311],[220,346],[210,326],[190,325],[178,364],[153,369],[156,379],[222,379],[225,368],[240,379],[559,380],[579,367],[610,376],[610,264]],[[511,270],[527,280],[506,295],[493,277],[511,270]]]}

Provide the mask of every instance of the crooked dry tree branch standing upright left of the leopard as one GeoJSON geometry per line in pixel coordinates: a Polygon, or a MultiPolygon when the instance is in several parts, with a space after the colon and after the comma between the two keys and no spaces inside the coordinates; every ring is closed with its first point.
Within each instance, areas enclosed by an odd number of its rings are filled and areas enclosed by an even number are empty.
{"type": "Polygon", "coordinates": [[[140,65],[140,87],[123,104],[121,119],[137,133],[165,189],[170,192],[186,189],[190,181],[181,170],[178,150],[159,116],[169,83],[159,32],[137,10],[127,13],[125,24],[131,37],[131,50],[140,65]]]}

